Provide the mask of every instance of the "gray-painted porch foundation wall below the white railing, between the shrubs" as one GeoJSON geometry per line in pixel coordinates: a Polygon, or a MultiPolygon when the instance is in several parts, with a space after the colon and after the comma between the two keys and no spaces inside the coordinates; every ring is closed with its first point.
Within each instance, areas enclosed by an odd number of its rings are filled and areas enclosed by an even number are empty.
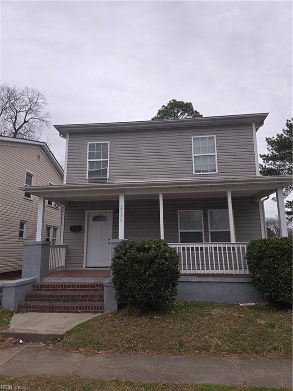
{"type": "Polygon", "coordinates": [[[267,301],[249,277],[180,277],[177,298],[219,303],[267,301]]]}

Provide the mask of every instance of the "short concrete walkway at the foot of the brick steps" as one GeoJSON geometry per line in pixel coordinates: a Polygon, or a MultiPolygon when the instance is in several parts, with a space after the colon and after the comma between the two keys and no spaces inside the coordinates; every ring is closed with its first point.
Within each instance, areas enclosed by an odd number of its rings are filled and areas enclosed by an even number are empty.
{"type": "Polygon", "coordinates": [[[7,337],[33,342],[46,342],[61,336],[79,323],[100,314],[56,314],[27,312],[15,314],[9,327],[1,331],[7,337]]]}

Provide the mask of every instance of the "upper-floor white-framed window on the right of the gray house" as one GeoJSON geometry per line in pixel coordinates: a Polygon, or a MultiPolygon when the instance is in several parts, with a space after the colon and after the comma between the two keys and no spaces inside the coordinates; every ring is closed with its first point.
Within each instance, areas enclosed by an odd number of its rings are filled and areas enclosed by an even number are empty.
{"type": "Polygon", "coordinates": [[[216,136],[192,137],[193,174],[217,173],[216,136]]]}

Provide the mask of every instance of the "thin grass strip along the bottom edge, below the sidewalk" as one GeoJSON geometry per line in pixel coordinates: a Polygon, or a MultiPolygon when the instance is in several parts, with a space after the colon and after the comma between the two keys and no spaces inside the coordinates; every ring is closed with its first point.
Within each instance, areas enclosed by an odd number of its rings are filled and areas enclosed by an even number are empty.
{"type": "MultiPolygon", "coordinates": [[[[269,391],[269,388],[249,386],[226,386],[186,383],[144,383],[121,380],[94,380],[76,376],[66,377],[4,377],[0,376],[1,386],[22,387],[30,391],[269,391]]],[[[4,388],[3,388],[4,389],[4,388]]],[[[10,388],[5,388],[10,389],[10,388]]],[[[286,388],[275,388],[274,391],[286,388]]]]}

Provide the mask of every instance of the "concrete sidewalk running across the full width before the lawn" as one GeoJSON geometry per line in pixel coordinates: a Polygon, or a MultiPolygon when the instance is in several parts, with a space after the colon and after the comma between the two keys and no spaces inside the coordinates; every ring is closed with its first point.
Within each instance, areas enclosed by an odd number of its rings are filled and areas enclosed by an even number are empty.
{"type": "Polygon", "coordinates": [[[0,351],[0,375],[66,376],[139,381],[254,385],[270,389],[292,385],[292,362],[212,358],[64,353],[27,345],[0,351]]]}

